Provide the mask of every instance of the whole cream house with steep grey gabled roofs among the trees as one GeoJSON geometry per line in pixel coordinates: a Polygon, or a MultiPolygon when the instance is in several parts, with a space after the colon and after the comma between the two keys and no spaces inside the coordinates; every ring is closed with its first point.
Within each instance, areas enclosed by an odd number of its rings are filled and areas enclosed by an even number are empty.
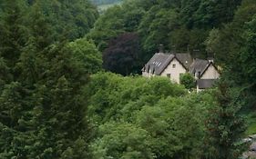
{"type": "Polygon", "coordinates": [[[195,77],[198,92],[211,87],[220,77],[213,59],[193,59],[189,54],[157,53],[142,69],[142,75],[145,77],[166,76],[178,84],[180,75],[185,73],[195,77]]]}

